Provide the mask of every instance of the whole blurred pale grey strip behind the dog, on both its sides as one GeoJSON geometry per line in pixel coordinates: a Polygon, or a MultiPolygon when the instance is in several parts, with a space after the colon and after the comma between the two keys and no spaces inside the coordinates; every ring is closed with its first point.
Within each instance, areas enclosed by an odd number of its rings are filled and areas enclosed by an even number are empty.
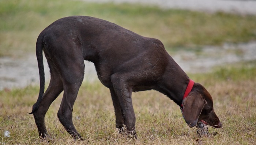
{"type": "MultiPolygon", "coordinates": [[[[172,54],[171,54],[172,55],[172,54]]],[[[189,73],[209,72],[212,67],[256,60],[256,42],[224,44],[221,47],[206,46],[201,51],[177,51],[172,55],[180,67],[189,73]]],[[[84,61],[84,79],[93,82],[97,74],[93,63],[84,61]]],[[[48,64],[44,58],[46,82],[50,79],[48,64]]],[[[0,58],[0,90],[39,84],[38,66],[35,55],[26,58],[0,58]]]]}

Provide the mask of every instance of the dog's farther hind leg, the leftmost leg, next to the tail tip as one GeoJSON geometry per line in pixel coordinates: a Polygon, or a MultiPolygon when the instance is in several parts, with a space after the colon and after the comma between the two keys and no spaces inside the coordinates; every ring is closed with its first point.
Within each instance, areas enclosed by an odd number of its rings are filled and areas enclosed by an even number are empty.
{"type": "Polygon", "coordinates": [[[33,113],[35,124],[37,125],[38,133],[41,138],[45,138],[47,133],[45,127],[45,114],[52,102],[59,96],[62,91],[63,85],[59,75],[56,73],[51,73],[49,86],[44,93],[38,109],[33,113]]]}

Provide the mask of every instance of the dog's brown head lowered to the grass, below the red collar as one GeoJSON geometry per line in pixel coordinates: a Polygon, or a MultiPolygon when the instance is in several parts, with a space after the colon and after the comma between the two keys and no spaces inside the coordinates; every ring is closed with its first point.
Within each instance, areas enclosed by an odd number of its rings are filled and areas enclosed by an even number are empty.
{"type": "Polygon", "coordinates": [[[198,121],[202,121],[213,128],[222,127],[213,110],[211,95],[199,83],[194,84],[188,97],[182,101],[182,105],[183,117],[190,127],[195,126],[198,121]]]}

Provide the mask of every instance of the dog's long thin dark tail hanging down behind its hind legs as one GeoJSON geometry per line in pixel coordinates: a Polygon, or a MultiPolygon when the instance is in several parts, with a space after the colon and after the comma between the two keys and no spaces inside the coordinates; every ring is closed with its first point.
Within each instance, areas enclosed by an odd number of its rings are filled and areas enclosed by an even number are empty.
{"type": "Polygon", "coordinates": [[[32,111],[29,114],[33,114],[35,111],[37,111],[40,102],[42,101],[44,90],[45,90],[45,71],[44,71],[44,62],[43,62],[43,39],[44,36],[42,33],[37,38],[37,43],[35,46],[35,53],[37,55],[37,63],[38,63],[38,69],[39,69],[39,80],[40,80],[40,90],[37,102],[33,105],[32,111]]]}

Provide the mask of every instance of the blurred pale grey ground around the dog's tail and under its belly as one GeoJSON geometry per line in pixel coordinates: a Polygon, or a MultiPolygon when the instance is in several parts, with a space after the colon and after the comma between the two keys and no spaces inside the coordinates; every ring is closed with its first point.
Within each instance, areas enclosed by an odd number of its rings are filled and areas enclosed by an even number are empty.
{"type": "MultiPolygon", "coordinates": [[[[84,61],[86,70],[84,79],[95,81],[97,74],[93,63],[84,61]]],[[[50,73],[46,58],[44,57],[45,81],[50,80],[50,73]]],[[[5,88],[22,88],[28,85],[39,85],[39,73],[37,58],[29,55],[26,58],[14,59],[9,57],[0,58],[0,90],[5,88]]]]}

